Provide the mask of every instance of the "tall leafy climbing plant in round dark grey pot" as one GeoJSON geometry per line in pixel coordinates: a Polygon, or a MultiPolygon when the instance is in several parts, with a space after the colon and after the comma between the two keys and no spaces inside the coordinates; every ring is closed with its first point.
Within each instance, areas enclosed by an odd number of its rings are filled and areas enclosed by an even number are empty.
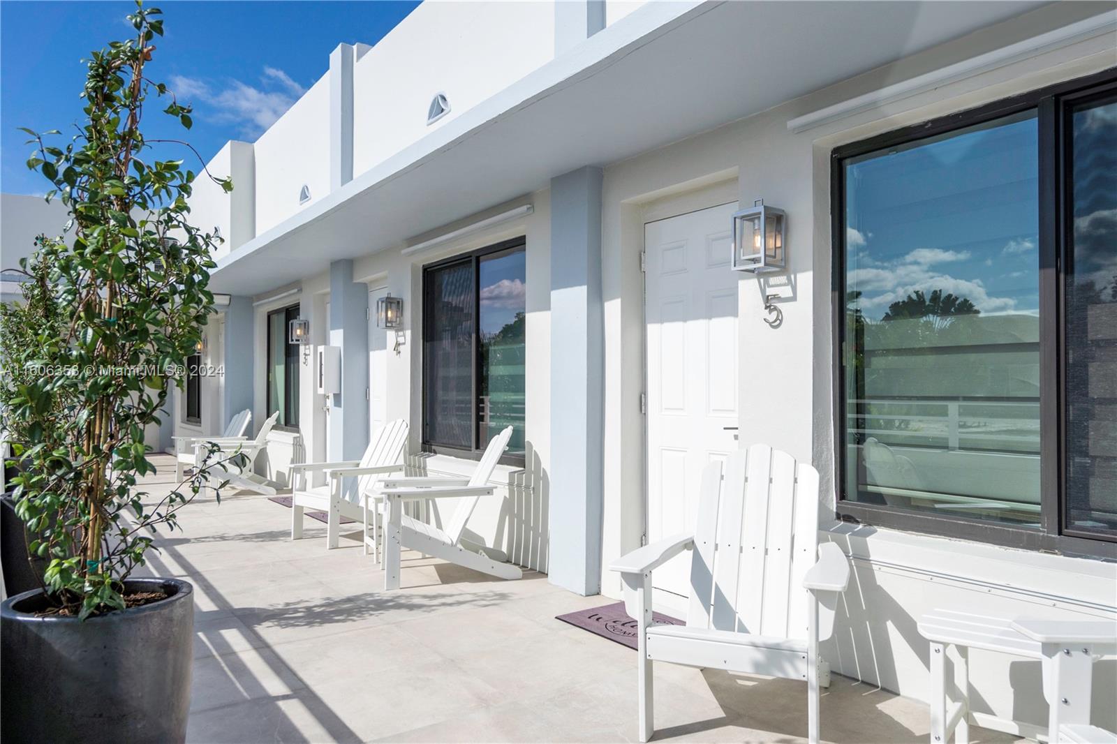
{"type": "Polygon", "coordinates": [[[137,3],[135,36],[93,53],[84,122],[68,144],[28,131],[28,166],[50,181],[47,198],[60,198],[70,221],[66,238],[38,239],[23,264],[26,302],[0,315],[2,428],[21,465],[16,511],[28,552],[45,564],[40,589],[0,608],[9,742],[185,737],[191,586],[131,574],[154,528],[173,530],[178,511],[217,485],[207,484],[212,452],[161,498],[136,479],[154,471],[144,430],[170,385],[182,387],[183,360],[213,312],[207,284],[220,238],[189,221],[194,173],[150,159],[155,141],[141,131],[159,98],[191,125],[190,108],[147,77],[160,16],[137,3]]]}

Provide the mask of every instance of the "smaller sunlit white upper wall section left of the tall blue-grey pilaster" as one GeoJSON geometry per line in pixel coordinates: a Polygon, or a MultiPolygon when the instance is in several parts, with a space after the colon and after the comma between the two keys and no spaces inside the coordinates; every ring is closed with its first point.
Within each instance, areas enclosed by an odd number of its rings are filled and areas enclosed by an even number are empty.
{"type": "Polygon", "coordinates": [[[330,193],[330,73],[260,135],[256,152],[256,233],[330,193]],[[303,185],[311,200],[299,204],[303,185]]]}

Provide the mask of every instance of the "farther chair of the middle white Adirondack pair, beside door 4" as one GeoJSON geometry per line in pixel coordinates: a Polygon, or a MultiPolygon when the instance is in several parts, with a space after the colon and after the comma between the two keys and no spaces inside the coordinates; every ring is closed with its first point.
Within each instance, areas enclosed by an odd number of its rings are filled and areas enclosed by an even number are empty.
{"type": "Polygon", "coordinates": [[[326,549],[337,547],[341,534],[341,518],[363,519],[361,495],[370,493],[376,481],[389,473],[403,470],[403,450],[408,443],[408,422],[403,419],[389,421],[373,432],[369,446],[360,460],[342,460],[336,462],[304,462],[290,466],[294,489],[290,509],[290,538],[303,536],[303,509],[313,508],[326,512],[326,549]],[[309,486],[311,473],[324,470],[327,483],[324,486],[309,486]],[[297,476],[297,477],[296,477],[297,476]],[[356,490],[346,495],[342,488],[342,479],[355,477],[356,490]]]}

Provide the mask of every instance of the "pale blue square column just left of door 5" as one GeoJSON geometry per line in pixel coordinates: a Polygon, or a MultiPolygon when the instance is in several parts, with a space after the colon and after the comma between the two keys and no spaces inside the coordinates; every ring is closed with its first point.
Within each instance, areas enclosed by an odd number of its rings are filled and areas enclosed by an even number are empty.
{"type": "Polygon", "coordinates": [[[551,180],[550,580],[586,595],[601,584],[601,182],[600,168],[551,180]]]}

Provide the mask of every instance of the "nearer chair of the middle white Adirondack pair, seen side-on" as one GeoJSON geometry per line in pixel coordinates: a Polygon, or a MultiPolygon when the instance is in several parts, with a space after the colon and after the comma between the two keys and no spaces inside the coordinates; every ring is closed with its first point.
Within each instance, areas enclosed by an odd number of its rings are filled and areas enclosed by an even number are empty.
{"type": "MultiPolygon", "coordinates": [[[[502,551],[484,545],[474,545],[461,538],[461,533],[465,531],[466,523],[474,513],[477,502],[481,496],[491,496],[495,492],[488,480],[502,452],[508,446],[509,437],[512,437],[512,427],[505,428],[493,437],[470,478],[384,479],[379,489],[379,497],[384,502],[385,590],[400,588],[400,553],[404,549],[433,555],[498,579],[519,579],[523,575],[518,566],[506,562],[507,556],[502,551]],[[403,514],[403,502],[428,498],[461,499],[442,530],[403,514]]],[[[364,497],[366,525],[369,524],[367,513],[375,508],[375,499],[376,495],[373,494],[364,497]]],[[[370,540],[367,534],[365,540],[370,540]]]]}

